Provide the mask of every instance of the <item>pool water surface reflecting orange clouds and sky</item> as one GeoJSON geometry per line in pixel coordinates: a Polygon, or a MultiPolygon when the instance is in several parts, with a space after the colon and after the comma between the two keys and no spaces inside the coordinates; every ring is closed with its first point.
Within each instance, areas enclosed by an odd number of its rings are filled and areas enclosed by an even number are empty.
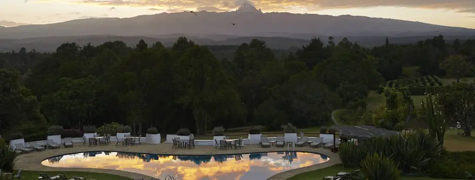
{"type": "Polygon", "coordinates": [[[125,152],[84,152],[49,158],[51,167],[115,169],[176,180],[266,180],[277,173],[327,162],[325,155],[269,152],[235,155],[169,156],[125,152]]]}

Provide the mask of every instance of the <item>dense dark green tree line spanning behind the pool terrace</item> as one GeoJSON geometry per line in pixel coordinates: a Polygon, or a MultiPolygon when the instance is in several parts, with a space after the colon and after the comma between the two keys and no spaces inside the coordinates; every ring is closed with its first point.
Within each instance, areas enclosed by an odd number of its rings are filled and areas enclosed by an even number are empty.
{"type": "Polygon", "coordinates": [[[232,57],[217,58],[230,48],[180,37],[171,48],[141,40],[134,48],[115,41],[64,43],[51,54],[1,53],[0,128],[118,122],[136,132],[156,126],[162,133],[203,134],[214,126],[316,126],[329,122],[335,109],[365,109],[368,90],[399,78],[403,66],[443,75],[440,64],[450,55],[475,56],[475,40],[445,42],[443,36],[409,45],[386,39],[374,48],[313,38],[288,56],[254,39],[232,57]]]}

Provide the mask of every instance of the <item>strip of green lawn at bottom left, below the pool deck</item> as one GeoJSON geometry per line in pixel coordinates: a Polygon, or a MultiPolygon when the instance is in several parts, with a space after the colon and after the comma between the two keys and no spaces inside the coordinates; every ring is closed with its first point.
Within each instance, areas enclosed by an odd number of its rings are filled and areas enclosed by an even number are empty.
{"type": "Polygon", "coordinates": [[[46,173],[49,177],[58,176],[58,174],[63,174],[69,179],[72,179],[74,176],[82,177],[86,180],[130,180],[130,178],[126,178],[123,176],[79,171],[23,171],[21,173],[21,177],[22,180],[37,180],[39,176],[38,173],[46,173]]]}

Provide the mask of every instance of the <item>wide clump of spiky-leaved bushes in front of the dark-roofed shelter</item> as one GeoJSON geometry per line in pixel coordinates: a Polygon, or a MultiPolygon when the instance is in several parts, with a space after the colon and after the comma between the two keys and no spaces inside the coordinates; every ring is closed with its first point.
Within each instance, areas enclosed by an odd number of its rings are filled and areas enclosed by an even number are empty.
{"type": "Polygon", "coordinates": [[[436,139],[423,130],[410,131],[390,137],[376,137],[361,141],[358,146],[342,144],[339,154],[346,167],[355,167],[365,154],[380,153],[385,157],[393,157],[399,170],[412,173],[426,169],[432,158],[437,158],[442,151],[436,139]]]}

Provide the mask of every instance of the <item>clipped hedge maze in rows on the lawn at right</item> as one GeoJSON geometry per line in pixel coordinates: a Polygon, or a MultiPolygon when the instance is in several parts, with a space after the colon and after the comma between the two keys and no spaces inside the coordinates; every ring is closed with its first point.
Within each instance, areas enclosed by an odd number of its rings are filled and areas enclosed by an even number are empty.
{"type": "Polygon", "coordinates": [[[386,83],[386,87],[409,87],[411,95],[424,95],[427,90],[436,90],[442,86],[443,83],[435,75],[392,80],[386,83]]]}

